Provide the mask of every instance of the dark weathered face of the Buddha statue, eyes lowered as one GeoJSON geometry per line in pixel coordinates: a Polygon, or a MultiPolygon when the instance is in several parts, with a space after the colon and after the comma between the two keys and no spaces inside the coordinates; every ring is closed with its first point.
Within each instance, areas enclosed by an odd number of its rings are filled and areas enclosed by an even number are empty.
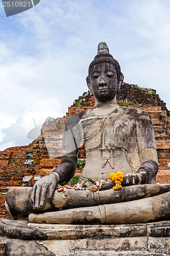
{"type": "Polygon", "coordinates": [[[111,62],[99,62],[90,71],[90,91],[101,102],[113,100],[118,89],[117,71],[111,62]]]}

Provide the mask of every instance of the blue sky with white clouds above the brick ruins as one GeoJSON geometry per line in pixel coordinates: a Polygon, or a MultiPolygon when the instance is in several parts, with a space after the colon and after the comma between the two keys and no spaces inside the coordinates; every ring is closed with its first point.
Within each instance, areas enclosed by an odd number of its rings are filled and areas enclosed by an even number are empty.
{"type": "Polygon", "coordinates": [[[169,0],[41,0],[7,17],[0,2],[0,151],[32,142],[88,90],[101,41],[124,81],[156,89],[170,110],[169,13],[169,0]]]}

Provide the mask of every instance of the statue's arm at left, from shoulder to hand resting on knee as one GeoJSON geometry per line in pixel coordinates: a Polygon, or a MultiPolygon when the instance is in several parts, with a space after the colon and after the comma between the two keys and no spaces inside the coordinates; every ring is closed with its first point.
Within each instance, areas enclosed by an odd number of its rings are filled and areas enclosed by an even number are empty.
{"type": "Polygon", "coordinates": [[[67,120],[60,165],[52,173],[34,184],[31,192],[31,201],[34,209],[43,209],[46,201],[52,200],[57,184],[68,181],[74,176],[82,140],[82,127],[78,125],[79,121],[80,118],[77,116],[71,116],[67,120]]]}

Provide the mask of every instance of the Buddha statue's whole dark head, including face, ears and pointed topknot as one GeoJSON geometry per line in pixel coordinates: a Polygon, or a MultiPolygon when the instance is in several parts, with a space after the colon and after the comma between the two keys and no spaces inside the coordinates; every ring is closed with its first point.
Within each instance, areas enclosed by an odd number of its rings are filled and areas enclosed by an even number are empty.
{"type": "Polygon", "coordinates": [[[100,102],[115,100],[123,80],[119,63],[109,53],[106,42],[100,42],[86,78],[90,94],[100,102]]]}

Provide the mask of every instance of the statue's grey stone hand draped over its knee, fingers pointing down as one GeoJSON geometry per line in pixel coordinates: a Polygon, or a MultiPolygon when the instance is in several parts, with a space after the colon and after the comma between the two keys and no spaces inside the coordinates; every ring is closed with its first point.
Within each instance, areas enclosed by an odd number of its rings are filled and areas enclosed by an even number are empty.
{"type": "Polygon", "coordinates": [[[58,178],[54,174],[47,175],[36,181],[31,191],[33,209],[42,209],[46,201],[52,200],[57,184],[58,178]]]}

